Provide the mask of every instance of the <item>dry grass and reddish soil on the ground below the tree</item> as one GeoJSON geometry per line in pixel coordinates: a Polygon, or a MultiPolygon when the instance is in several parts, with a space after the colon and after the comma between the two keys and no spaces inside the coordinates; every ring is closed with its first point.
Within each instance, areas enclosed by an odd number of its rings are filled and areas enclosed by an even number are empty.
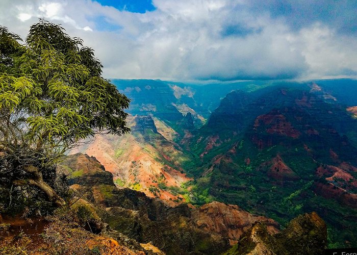
{"type": "Polygon", "coordinates": [[[112,254],[144,255],[121,246],[111,238],[85,230],[75,211],[48,218],[7,218],[0,224],[0,254],[112,254]]]}

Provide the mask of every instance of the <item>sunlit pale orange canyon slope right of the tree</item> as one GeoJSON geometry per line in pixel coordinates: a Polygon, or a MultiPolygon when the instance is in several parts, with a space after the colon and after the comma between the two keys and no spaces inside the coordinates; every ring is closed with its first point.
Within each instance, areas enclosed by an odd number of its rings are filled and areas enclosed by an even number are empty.
{"type": "Polygon", "coordinates": [[[161,189],[159,184],[180,187],[181,183],[191,180],[180,167],[183,161],[187,161],[186,156],[176,144],[158,133],[150,116],[129,116],[127,122],[132,129],[131,134],[100,135],[93,143],[85,144],[72,153],[94,156],[113,174],[118,187],[131,187],[177,205],[184,200],[183,196],[161,189]]]}

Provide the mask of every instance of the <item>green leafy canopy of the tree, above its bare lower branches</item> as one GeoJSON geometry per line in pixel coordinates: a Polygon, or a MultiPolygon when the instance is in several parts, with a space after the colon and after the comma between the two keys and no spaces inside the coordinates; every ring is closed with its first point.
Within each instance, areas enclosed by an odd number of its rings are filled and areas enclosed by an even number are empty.
{"type": "Polygon", "coordinates": [[[20,45],[0,29],[0,111],[21,139],[64,148],[100,132],[121,135],[129,99],[101,75],[91,48],[41,20],[20,45]],[[15,123],[16,122],[16,123],[15,123]]]}

